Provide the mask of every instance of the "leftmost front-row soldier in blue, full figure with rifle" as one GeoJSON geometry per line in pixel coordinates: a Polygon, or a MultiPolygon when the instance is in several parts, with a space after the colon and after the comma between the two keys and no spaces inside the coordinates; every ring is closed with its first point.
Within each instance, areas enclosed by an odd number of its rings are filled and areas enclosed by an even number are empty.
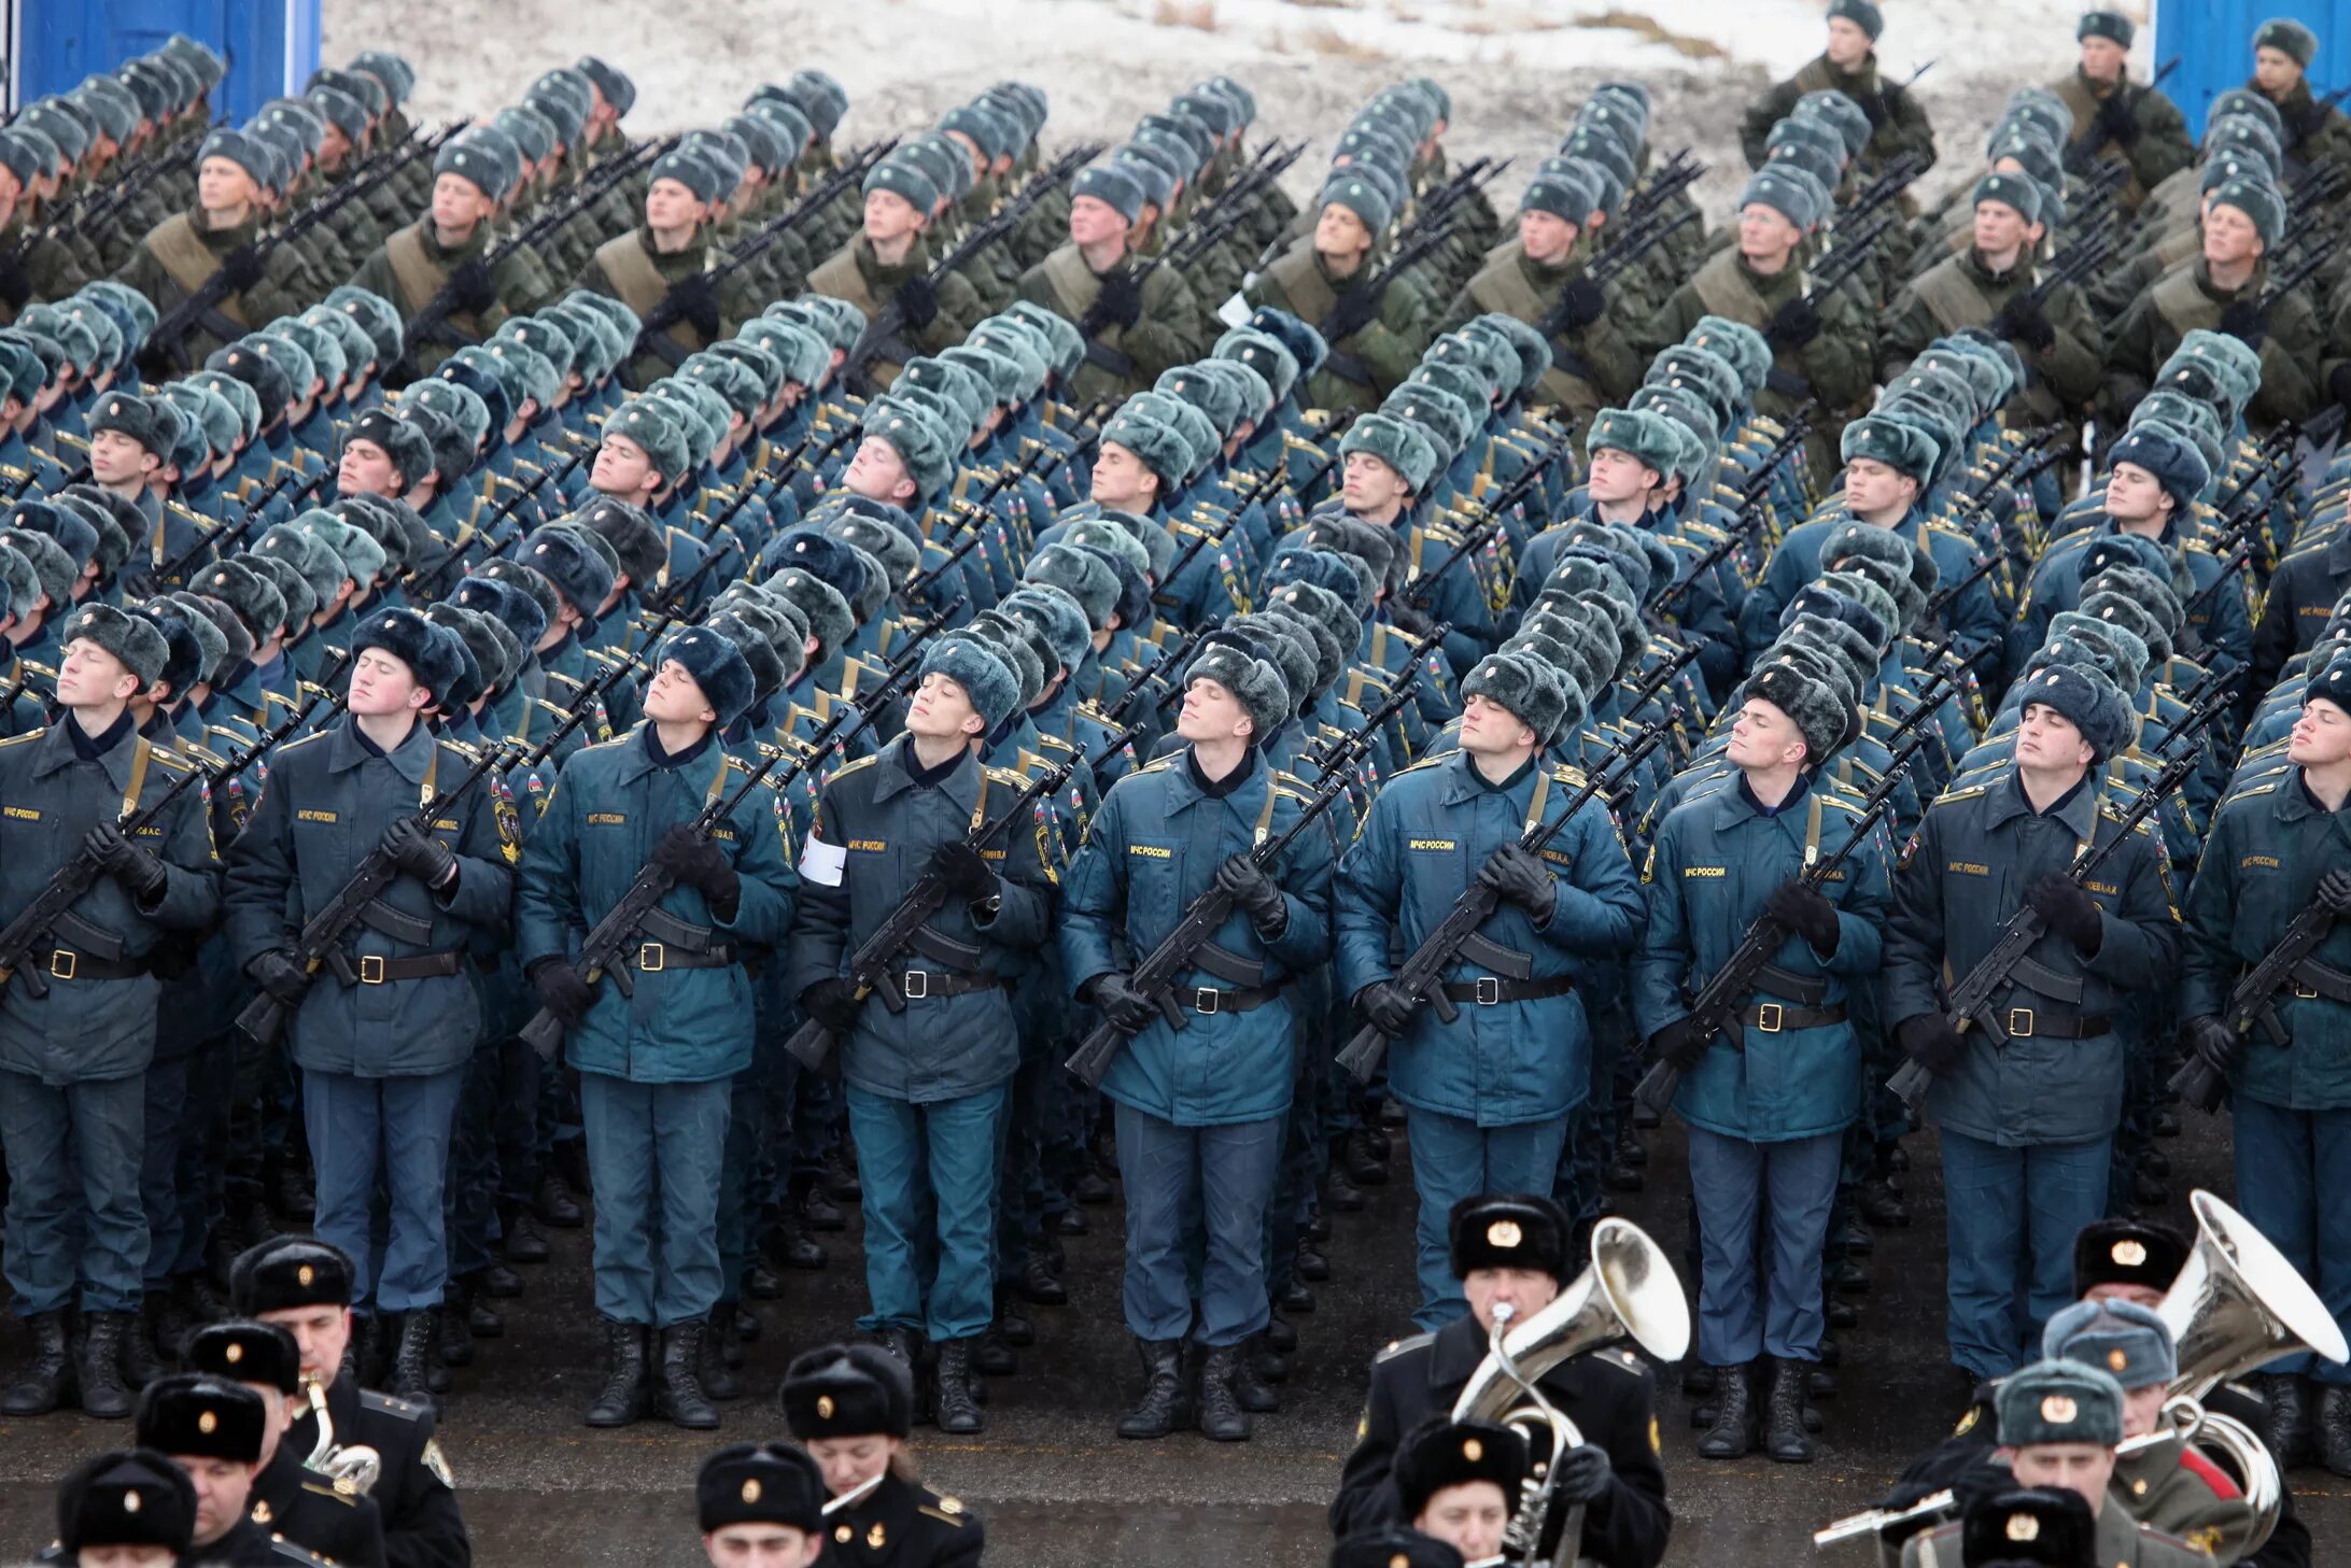
{"type": "Polygon", "coordinates": [[[179,790],[132,832],[188,764],[134,733],[132,696],[162,675],[162,630],[89,604],[63,630],[54,724],[0,743],[0,910],[33,903],[71,860],[99,872],[28,954],[40,980],[0,992],[0,1145],[7,1147],[7,1276],[31,1331],[7,1415],[42,1415],[80,1389],[85,1415],[132,1413],[122,1385],[148,1253],[139,1173],[146,1070],[155,1056],[155,947],[221,907],[221,865],[200,790],[179,790]],[[35,994],[38,992],[38,994],[35,994]],[[82,1342],[66,1354],[66,1312],[82,1342]]]}

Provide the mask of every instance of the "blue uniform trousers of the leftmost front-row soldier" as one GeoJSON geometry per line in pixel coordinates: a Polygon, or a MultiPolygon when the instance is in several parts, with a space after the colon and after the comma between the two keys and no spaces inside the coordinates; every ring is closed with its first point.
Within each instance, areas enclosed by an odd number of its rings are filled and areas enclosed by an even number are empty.
{"type": "Polygon", "coordinates": [[[146,1079],[42,1084],[0,1072],[7,1284],[19,1316],[136,1312],[148,1255],[139,1166],[146,1079]]]}

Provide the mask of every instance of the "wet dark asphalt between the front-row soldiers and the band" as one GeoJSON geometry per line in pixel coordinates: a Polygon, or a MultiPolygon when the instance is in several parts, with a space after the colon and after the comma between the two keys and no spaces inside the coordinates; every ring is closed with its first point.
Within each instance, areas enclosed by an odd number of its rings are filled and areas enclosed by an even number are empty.
{"type": "MultiPolygon", "coordinates": [[[[1648,1133],[1646,1192],[1617,1199],[1676,1260],[1683,1251],[1688,1175],[1679,1131],[1648,1133]]],[[[2175,1220],[2186,1192],[2229,1194],[2224,1124],[2191,1119],[2161,1145],[2172,1164],[2175,1220]]],[[[1815,1554],[1810,1530],[1864,1507],[1956,1415],[1942,1354],[1942,1194],[1933,1135],[1909,1140],[1902,1178],[1914,1222],[1886,1229],[1867,1260],[1860,1326],[1838,1335],[1841,1392],[1824,1401],[1820,1460],[1773,1465],[1761,1455],[1721,1465],[1695,1458],[1695,1434],[1674,1373],[1662,1378],[1660,1425],[1674,1502],[1669,1563],[1867,1563],[1862,1544],[1815,1554]]],[[[748,1394],[726,1406],[719,1434],[658,1422],[590,1432],[578,1422],[597,1380],[588,1232],[552,1232],[555,1260],[524,1269],[529,1293],[501,1302],[505,1338],[482,1342],[444,1401],[442,1448],[456,1472],[484,1568],[691,1568],[691,1479],[719,1441],[783,1434],[773,1392],[795,1352],[842,1338],[863,1305],[856,1208],[846,1234],[825,1237],[832,1267],[790,1274],[783,1300],[762,1302],[766,1324],[750,1345],[748,1394]]],[[[1124,1443],[1117,1413],[1136,1392],[1136,1361],[1119,1324],[1119,1211],[1089,1208],[1093,1234],[1067,1241],[1070,1305],[1037,1307],[1037,1345],[1020,1373],[990,1385],[987,1432],[940,1439],[917,1432],[924,1476],[964,1497],[987,1521],[990,1561],[1023,1568],[1121,1563],[1192,1568],[1248,1563],[1319,1566],[1331,1547],[1324,1507],[1361,1413],[1366,1363],[1406,1333],[1411,1274],[1411,1171],[1396,1135],[1392,1182],[1371,1190],[1364,1213],[1335,1215],[1333,1279],[1295,1319],[1300,1354],[1284,1410],[1260,1415],[1248,1443],[1199,1434],[1124,1443]]],[[[1686,1279],[1686,1284],[1690,1284],[1686,1279]]],[[[0,1328],[0,1378],[24,1354],[21,1328],[0,1328]]],[[[0,1561],[21,1561],[54,1533],[49,1483],[78,1458],[127,1441],[127,1422],[52,1415],[0,1422],[0,1561]]],[[[2351,1540],[2351,1488],[2306,1469],[2290,1476],[2316,1535],[2316,1561],[2351,1540]]]]}

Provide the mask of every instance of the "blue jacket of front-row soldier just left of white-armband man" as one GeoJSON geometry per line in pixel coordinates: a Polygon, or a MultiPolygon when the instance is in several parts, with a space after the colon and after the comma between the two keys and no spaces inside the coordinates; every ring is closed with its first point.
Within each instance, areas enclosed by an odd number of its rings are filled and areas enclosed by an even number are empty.
{"type": "MultiPolygon", "coordinates": [[[[654,726],[644,724],[578,752],[555,778],[515,900],[524,973],[545,957],[576,959],[588,929],[621,903],[661,837],[731,797],[750,773],[715,743],[677,762],[656,757],[654,745],[654,726]]],[[[783,943],[799,886],[783,832],[776,792],[755,785],[710,835],[741,879],[734,917],[717,919],[696,889],[663,893],[625,976],[604,976],[588,1018],[564,1030],[574,1067],[637,1084],[708,1084],[750,1067],[745,947],[783,943]]]]}

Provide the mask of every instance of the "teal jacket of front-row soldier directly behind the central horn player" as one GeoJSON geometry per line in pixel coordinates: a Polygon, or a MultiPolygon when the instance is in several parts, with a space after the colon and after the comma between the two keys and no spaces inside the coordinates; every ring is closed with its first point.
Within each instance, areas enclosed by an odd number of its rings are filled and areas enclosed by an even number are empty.
{"type": "MultiPolygon", "coordinates": [[[[1338,983],[1354,997],[1453,912],[1462,891],[1531,820],[1554,823],[1582,785],[1556,764],[1526,766],[1488,785],[1467,752],[1408,766],[1371,802],[1371,816],[1338,877],[1338,983]]],[[[1389,1051],[1387,1079],[1415,1110],[1479,1126],[1519,1126],[1568,1114],[1592,1088],[1592,1027],[1575,990],[1641,938],[1641,886],[1599,799],[1542,849],[1556,891],[1535,922],[1500,905],[1462,961],[1446,971],[1458,987],[1455,1023],[1422,1006],[1389,1051]],[[1552,983],[1552,985],[1545,985],[1552,983]],[[1556,990],[1479,1006],[1476,992],[1556,990]]]]}

